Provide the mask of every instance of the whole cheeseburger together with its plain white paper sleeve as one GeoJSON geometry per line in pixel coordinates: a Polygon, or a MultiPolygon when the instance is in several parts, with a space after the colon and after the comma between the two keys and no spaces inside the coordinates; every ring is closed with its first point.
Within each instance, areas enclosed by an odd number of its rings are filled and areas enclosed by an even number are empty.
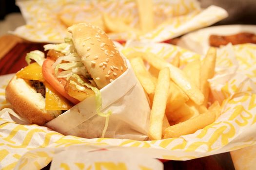
{"type": "Polygon", "coordinates": [[[128,60],[98,27],[68,31],[65,43],[44,46],[47,58],[28,53],[36,62],[13,77],[6,99],[30,123],[65,135],[144,140],[150,108],[128,60]]]}

